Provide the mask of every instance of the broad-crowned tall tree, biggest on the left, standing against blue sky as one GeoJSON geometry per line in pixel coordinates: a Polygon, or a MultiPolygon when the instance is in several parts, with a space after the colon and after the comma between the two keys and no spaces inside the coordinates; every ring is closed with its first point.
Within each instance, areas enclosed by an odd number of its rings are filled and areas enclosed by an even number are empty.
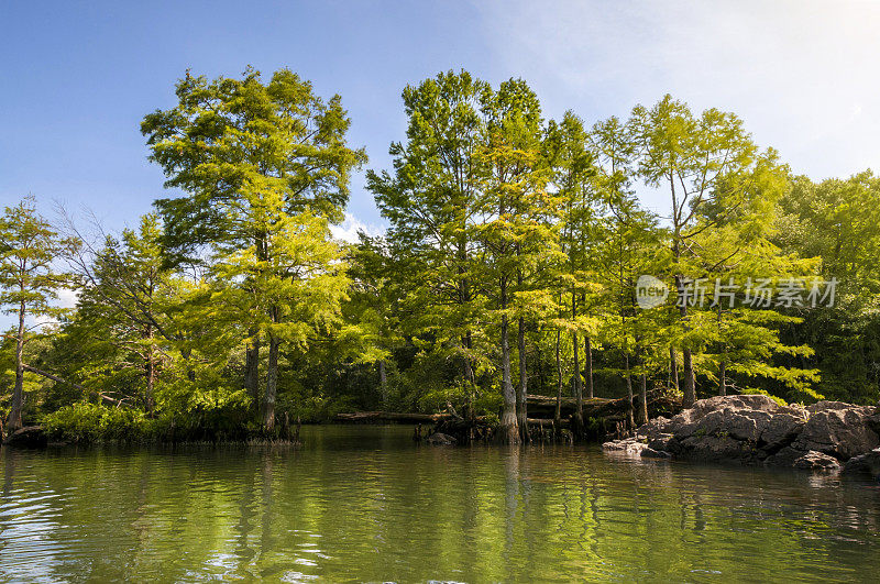
{"type": "Polygon", "coordinates": [[[320,257],[336,260],[327,249],[329,233],[320,225],[342,219],[351,170],[365,155],[345,141],[350,121],[340,97],[324,101],[289,69],[276,71],[265,84],[253,69],[241,79],[210,81],[187,74],[176,92],[176,107],[146,115],[141,125],[151,159],[168,177],[166,187],[187,192],[156,202],[166,225],[164,243],[174,261],[226,256],[252,269],[237,282],[251,295],[253,309],[246,323],[244,379],[256,395],[254,371],[265,334],[270,354],[263,425],[271,431],[278,348],[283,331],[294,326],[285,318],[295,313],[288,305],[296,299],[261,286],[314,268],[285,263],[298,257],[278,240],[286,234],[318,238],[314,243],[320,257]]]}

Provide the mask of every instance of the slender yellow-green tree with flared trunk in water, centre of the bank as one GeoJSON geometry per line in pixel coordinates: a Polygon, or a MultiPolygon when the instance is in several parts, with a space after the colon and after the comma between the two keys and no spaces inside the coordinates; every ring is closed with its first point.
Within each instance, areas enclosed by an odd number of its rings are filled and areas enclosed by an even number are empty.
{"type": "Polygon", "coordinates": [[[501,423],[506,440],[516,442],[527,436],[526,315],[536,308],[531,285],[540,258],[551,260],[558,247],[557,232],[547,220],[556,199],[547,190],[550,175],[542,157],[541,110],[535,92],[521,80],[510,79],[497,91],[485,93],[483,112],[486,135],[479,152],[487,173],[477,202],[483,247],[480,276],[492,299],[501,337],[501,423]],[[516,387],[510,364],[512,317],[518,320],[516,387]]]}

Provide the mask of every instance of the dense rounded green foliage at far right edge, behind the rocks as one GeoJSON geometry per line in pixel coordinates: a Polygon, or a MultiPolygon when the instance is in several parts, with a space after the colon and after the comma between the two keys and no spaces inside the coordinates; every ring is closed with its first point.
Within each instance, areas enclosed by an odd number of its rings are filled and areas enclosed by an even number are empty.
{"type": "Polygon", "coordinates": [[[824,279],[837,278],[833,307],[795,310],[788,331],[815,350],[818,392],[829,399],[880,399],[880,179],[870,172],[814,184],[794,177],[780,201],[774,242],[820,261],[824,279]]]}

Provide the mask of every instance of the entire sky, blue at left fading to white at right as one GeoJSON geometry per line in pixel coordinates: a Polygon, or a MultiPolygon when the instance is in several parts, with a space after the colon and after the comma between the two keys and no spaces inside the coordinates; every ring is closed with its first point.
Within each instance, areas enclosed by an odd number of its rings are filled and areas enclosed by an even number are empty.
{"type": "MultiPolygon", "coordinates": [[[[187,68],[289,67],[340,93],[373,168],[403,139],[404,86],[459,68],[522,77],[548,117],[592,123],[671,92],[737,112],[813,178],[880,168],[880,2],[7,0],[0,22],[0,203],[33,194],[110,229],[167,196],[139,124],[187,68]]],[[[348,229],[381,227],[362,174],[349,211],[348,229]]]]}

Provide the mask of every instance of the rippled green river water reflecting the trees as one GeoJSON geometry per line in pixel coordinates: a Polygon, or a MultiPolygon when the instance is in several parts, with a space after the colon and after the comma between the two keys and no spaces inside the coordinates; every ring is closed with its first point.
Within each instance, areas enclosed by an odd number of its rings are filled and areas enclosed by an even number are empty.
{"type": "Polygon", "coordinates": [[[876,483],[410,434],[4,448],[0,582],[880,581],[876,483]]]}

